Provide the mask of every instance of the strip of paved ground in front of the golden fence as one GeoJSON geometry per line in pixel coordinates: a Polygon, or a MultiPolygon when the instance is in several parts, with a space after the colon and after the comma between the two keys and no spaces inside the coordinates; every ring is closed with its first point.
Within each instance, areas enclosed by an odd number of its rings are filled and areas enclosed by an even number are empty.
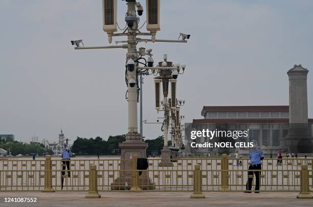
{"type": "Polygon", "coordinates": [[[0,206],[313,206],[313,199],[297,199],[298,193],[205,192],[205,199],[192,199],[189,192],[100,192],[87,199],[85,192],[1,192],[0,206]],[[6,203],[5,197],[37,197],[37,203],[6,203]]]}

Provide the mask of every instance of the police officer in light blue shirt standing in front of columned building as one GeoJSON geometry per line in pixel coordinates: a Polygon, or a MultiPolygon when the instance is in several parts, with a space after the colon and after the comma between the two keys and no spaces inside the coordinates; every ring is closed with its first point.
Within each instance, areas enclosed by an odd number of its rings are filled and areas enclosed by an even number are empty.
{"type": "MultiPolygon", "coordinates": [[[[250,157],[250,166],[249,170],[261,170],[262,162],[261,160],[264,159],[264,154],[262,149],[258,147],[258,143],[256,140],[251,141],[253,143],[252,149],[250,149],[249,157],[250,157]]],[[[259,193],[260,190],[260,171],[248,171],[248,180],[247,184],[245,185],[245,193],[251,193],[252,189],[252,181],[253,177],[249,177],[249,175],[255,174],[255,193],[259,193]]]]}

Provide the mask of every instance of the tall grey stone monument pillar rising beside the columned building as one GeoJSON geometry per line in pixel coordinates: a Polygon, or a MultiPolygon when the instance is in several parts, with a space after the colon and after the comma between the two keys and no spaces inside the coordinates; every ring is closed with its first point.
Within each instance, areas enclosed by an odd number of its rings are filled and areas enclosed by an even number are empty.
{"type": "Polygon", "coordinates": [[[282,147],[292,153],[311,153],[311,126],[307,119],[307,73],[301,65],[288,70],[289,76],[289,131],[282,138],[282,147]]]}

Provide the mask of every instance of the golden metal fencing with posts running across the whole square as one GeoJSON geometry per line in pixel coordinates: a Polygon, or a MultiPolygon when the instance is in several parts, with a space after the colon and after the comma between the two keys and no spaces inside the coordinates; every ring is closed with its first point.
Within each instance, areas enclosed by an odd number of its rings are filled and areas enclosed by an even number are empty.
{"type": "Polygon", "coordinates": [[[36,161],[2,160],[0,191],[90,191],[95,185],[96,191],[245,191],[249,176],[254,191],[256,178],[248,171],[260,173],[259,191],[313,188],[311,159],[283,159],[278,164],[275,159],[264,159],[262,170],[248,170],[248,159],[240,159],[238,165],[226,154],[179,159],[172,167],[159,167],[162,159],[148,161],[147,170],[137,170],[136,155],[127,160],[69,160],[69,170],[64,161],[49,156],[36,161]]]}

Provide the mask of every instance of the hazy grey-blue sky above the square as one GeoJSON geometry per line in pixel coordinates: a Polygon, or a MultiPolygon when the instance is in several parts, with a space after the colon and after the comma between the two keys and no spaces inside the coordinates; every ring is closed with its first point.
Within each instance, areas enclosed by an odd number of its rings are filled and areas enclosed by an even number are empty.
{"type": "MultiPolygon", "coordinates": [[[[118,0],[120,27],[126,10],[118,0]]],[[[157,39],[177,39],[182,32],[190,40],[138,46],[151,48],[155,62],[168,54],[168,61],[187,65],[177,81],[185,122],[203,118],[203,106],[288,105],[286,72],[295,64],[309,70],[313,118],[312,10],[309,0],[163,0],[157,39]]],[[[145,11],[140,18],[141,25],[145,11]]],[[[74,50],[70,42],[109,45],[101,1],[1,0],[0,25],[0,134],[57,141],[62,128],[70,142],[126,134],[126,49],[74,50]]],[[[125,38],[114,37],[112,45],[116,40],[125,38]]],[[[145,76],[143,120],[149,122],[162,116],[153,91],[153,76],[145,76]]],[[[143,134],[157,138],[161,124],[144,124],[143,134]]]]}

